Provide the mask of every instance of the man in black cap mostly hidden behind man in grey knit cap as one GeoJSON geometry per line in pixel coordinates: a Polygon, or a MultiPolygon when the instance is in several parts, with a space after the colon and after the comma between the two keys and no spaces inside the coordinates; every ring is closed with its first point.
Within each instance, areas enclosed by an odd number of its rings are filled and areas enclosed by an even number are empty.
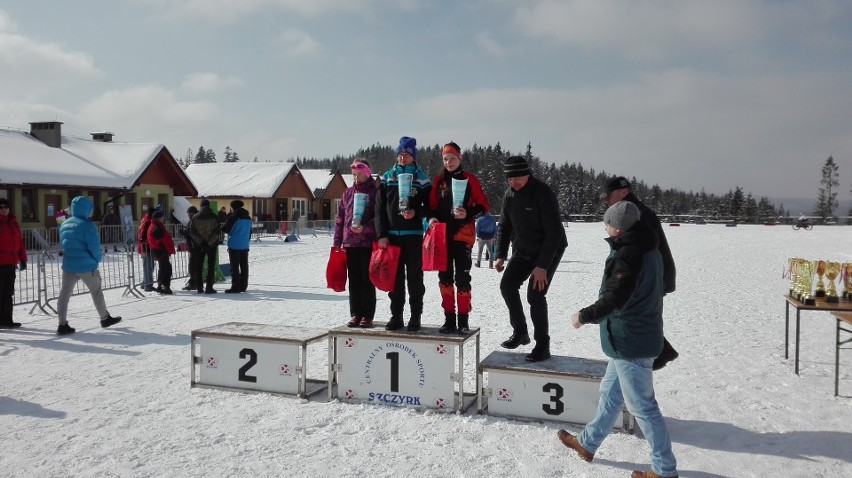
{"type": "MultiPolygon", "coordinates": [[[[660,224],[660,218],[657,217],[651,208],[642,203],[633,194],[630,190],[630,182],[624,176],[616,176],[607,181],[606,189],[601,193],[601,199],[603,199],[607,206],[612,206],[618,201],[630,201],[639,208],[639,212],[642,213],[640,221],[657,235],[657,247],[660,250],[660,255],[663,257],[663,292],[665,294],[674,292],[676,274],[674,258],[672,257],[671,249],[669,249],[669,242],[666,240],[666,233],[663,232],[663,226],[660,224]]],[[[663,337],[663,351],[654,360],[654,370],[665,367],[666,364],[677,357],[677,350],[663,337]]]]}

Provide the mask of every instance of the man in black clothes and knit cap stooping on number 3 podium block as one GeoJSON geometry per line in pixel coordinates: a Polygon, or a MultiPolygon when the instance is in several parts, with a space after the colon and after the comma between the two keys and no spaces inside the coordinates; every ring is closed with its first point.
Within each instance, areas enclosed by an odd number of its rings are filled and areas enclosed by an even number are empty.
{"type": "Polygon", "coordinates": [[[521,303],[521,285],[527,283],[527,302],[533,323],[535,346],[525,358],[537,362],[550,358],[547,290],[562,254],[568,247],[565,228],[559,217],[556,195],[544,182],[530,174],[527,160],[512,156],[504,164],[509,187],[503,197],[503,211],[497,227],[497,253],[494,269],[503,264],[512,246],[512,258],[500,280],[500,293],[509,308],[512,336],[501,345],[515,349],[530,343],[527,319],[521,303]]]}

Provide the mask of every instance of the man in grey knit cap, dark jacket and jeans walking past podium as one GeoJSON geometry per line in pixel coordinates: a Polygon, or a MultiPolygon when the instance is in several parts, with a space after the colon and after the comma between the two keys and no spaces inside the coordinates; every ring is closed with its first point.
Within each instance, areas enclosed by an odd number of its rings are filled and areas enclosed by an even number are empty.
{"type": "Polygon", "coordinates": [[[577,436],[565,430],[557,436],[590,462],[626,404],[651,446],[651,469],[634,471],[632,478],[676,477],[677,462],[654,396],[651,369],[663,349],[663,261],[656,234],[639,217],[639,208],[630,201],[617,202],[604,214],[610,253],[598,300],[571,316],[571,324],[577,329],[598,324],[609,362],[595,418],[577,436]]]}

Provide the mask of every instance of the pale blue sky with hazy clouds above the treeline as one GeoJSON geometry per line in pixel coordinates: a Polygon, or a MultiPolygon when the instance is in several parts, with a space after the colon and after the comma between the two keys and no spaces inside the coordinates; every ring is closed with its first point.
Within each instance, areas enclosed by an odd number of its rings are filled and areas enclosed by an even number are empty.
{"type": "Polygon", "coordinates": [[[847,201],[849,25],[841,0],[0,0],[0,125],[244,161],[532,143],[771,198],[815,198],[833,155],[847,201]]]}

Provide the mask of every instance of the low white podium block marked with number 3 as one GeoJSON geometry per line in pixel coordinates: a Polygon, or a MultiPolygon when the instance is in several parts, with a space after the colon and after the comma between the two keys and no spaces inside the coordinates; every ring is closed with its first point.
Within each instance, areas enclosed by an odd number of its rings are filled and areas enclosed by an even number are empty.
{"type": "MultiPolygon", "coordinates": [[[[557,355],[531,363],[520,353],[494,351],[477,367],[477,408],[489,415],[583,426],[597,412],[606,366],[604,360],[557,355]]],[[[621,413],[615,430],[633,433],[635,419],[626,408],[621,413]]]]}

